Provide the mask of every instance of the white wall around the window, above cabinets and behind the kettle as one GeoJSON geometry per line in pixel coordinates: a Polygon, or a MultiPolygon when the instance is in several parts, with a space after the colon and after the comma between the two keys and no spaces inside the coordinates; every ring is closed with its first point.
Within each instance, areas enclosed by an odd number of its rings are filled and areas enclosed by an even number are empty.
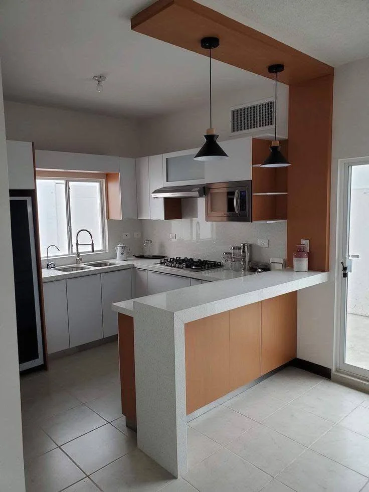
{"type": "MultiPolygon", "coordinates": [[[[33,141],[35,148],[39,150],[121,157],[135,157],[139,153],[138,122],[134,119],[6,101],[5,124],[8,139],[33,141]]],[[[50,166],[50,168],[53,167],[50,166]]],[[[116,170],[109,169],[109,171],[116,170]]],[[[123,232],[131,233],[131,239],[124,240],[124,242],[133,252],[140,253],[142,241],[133,237],[134,232],[141,232],[140,221],[109,220],[109,251],[106,254],[90,255],[85,259],[93,261],[114,257],[114,247],[122,242],[123,232]]],[[[59,258],[56,263],[57,265],[69,264],[71,259],[59,258]]],[[[45,266],[46,260],[43,262],[43,267],[45,266]]]]}

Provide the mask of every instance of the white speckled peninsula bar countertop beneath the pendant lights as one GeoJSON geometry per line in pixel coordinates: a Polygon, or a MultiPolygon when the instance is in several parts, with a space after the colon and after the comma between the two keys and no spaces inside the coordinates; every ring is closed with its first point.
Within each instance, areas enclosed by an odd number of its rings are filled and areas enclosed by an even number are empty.
{"type": "Polygon", "coordinates": [[[294,272],[290,268],[258,275],[247,272],[247,275],[224,279],[222,282],[195,285],[117,302],[112,305],[112,308],[117,312],[133,316],[135,304],[145,304],[176,313],[183,322],[187,323],[326,282],[328,275],[328,272],[294,272]]]}

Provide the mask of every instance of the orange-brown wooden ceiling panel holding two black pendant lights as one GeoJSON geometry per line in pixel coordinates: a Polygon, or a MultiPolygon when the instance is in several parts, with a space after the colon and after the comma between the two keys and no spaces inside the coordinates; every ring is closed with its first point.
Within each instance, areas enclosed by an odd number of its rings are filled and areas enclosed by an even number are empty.
{"type": "Polygon", "coordinates": [[[133,31],[208,56],[200,46],[204,36],[218,36],[214,58],[274,79],[271,63],[284,63],[278,80],[285,84],[332,74],[333,68],[255,29],[193,0],[158,0],[131,19],[133,31]]]}

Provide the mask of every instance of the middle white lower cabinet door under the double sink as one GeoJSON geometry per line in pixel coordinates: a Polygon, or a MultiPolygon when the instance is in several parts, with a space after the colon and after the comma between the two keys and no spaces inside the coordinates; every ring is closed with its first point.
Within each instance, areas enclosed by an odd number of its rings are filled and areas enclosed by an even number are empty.
{"type": "Polygon", "coordinates": [[[70,346],[103,338],[100,275],[67,279],[70,346]]]}

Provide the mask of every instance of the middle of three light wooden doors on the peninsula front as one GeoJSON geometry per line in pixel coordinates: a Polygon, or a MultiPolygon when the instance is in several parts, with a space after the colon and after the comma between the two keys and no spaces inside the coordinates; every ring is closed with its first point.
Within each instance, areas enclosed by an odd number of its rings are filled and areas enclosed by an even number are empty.
{"type": "Polygon", "coordinates": [[[261,376],[261,302],[232,309],[230,323],[230,391],[261,376]]]}

